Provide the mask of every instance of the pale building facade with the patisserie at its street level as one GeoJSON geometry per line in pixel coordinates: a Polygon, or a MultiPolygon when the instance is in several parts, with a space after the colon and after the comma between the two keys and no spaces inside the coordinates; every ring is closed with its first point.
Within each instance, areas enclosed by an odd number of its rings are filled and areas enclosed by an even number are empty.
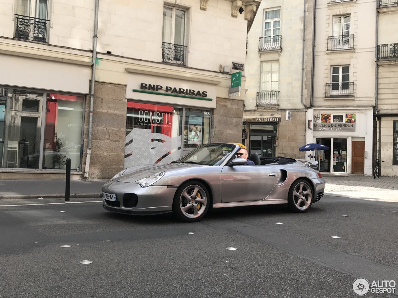
{"type": "Polygon", "coordinates": [[[304,158],[298,148],[310,106],[313,14],[313,1],[260,4],[246,55],[242,142],[250,153],[304,158]]]}

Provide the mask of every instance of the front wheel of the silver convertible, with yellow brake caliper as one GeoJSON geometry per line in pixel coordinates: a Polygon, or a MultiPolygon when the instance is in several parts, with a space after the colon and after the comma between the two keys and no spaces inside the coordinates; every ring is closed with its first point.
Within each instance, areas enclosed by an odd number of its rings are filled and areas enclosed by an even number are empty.
{"type": "Polygon", "coordinates": [[[181,184],[174,196],[173,214],[182,221],[199,221],[209,209],[209,191],[199,181],[181,184]]]}

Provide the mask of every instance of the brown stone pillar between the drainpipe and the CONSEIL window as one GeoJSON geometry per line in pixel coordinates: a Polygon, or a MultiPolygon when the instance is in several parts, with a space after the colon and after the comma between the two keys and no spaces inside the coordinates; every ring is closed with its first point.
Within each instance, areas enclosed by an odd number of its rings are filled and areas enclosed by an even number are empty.
{"type": "MultiPolygon", "coordinates": [[[[89,179],[109,179],[123,169],[126,135],[126,86],[95,82],[89,179]]],[[[88,146],[90,96],[86,98],[84,150],[88,146]]],[[[86,152],[83,155],[84,171],[86,152]]]]}

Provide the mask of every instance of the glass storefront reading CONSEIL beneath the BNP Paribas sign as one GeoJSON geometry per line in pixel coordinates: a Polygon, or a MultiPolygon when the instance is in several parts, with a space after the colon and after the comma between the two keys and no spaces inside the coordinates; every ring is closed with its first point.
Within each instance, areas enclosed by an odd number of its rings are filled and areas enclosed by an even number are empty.
{"type": "Polygon", "coordinates": [[[127,102],[124,166],[170,163],[209,137],[210,110],[127,102]]]}

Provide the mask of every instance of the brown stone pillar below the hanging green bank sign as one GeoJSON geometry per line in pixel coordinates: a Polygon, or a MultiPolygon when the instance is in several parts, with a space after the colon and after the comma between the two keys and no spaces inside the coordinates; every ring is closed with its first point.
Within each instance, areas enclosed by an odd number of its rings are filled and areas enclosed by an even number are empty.
{"type": "Polygon", "coordinates": [[[213,112],[212,142],[242,142],[243,101],[217,97],[213,112]]]}

